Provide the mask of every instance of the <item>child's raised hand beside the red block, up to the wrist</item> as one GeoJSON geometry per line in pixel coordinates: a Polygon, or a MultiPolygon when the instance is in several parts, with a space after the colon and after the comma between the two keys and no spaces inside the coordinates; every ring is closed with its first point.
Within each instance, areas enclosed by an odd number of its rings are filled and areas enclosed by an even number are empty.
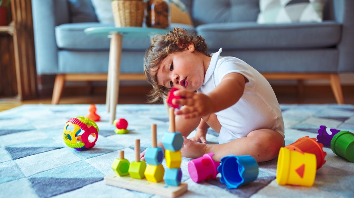
{"type": "Polygon", "coordinates": [[[184,115],[184,118],[195,118],[212,113],[212,101],[209,96],[187,90],[177,90],[175,96],[182,96],[181,99],[173,99],[172,104],[184,106],[177,111],[177,115],[184,115]]]}

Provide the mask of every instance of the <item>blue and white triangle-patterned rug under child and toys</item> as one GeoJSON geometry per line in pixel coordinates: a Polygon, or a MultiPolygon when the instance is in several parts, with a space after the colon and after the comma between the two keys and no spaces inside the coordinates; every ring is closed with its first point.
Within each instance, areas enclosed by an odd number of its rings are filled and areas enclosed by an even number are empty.
{"type": "MultiPolygon", "coordinates": [[[[150,124],[158,126],[158,141],[169,127],[163,105],[119,105],[116,117],[129,122],[128,134],[115,134],[104,105],[97,105],[103,121],[94,148],[76,151],[63,141],[65,122],[88,113],[89,105],[23,105],[0,112],[0,197],[159,197],[104,184],[103,177],[118,150],[134,161],[134,140],[141,150],[151,145],[150,124]]],[[[285,144],[298,138],[316,137],[320,125],[354,131],[354,106],[336,104],[281,105],[285,122],[285,144]]],[[[190,134],[194,136],[195,132],[190,134]]],[[[218,133],[209,130],[209,144],[217,144],[218,133]]],[[[279,186],[276,162],[259,163],[258,178],[238,189],[228,189],[219,179],[194,183],[183,158],[182,181],[188,192],[182,197],[354,197],[354,163],[338,157],[330,148],[326,164],[317,170],[313,187],[279,186]]],[[[166,168],[166,162],[163,163],[166,168]]]]}

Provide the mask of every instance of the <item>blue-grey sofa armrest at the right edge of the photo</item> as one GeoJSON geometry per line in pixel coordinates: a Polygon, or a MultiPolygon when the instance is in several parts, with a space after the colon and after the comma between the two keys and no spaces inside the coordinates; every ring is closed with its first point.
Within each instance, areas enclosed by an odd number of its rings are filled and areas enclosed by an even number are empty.
{"type": "Polygon", "coordinates": [[[354,72],[354,1],[333,0],[336,21],[342,24],[342,37],[338,44],[338,72],[354,72]]]}

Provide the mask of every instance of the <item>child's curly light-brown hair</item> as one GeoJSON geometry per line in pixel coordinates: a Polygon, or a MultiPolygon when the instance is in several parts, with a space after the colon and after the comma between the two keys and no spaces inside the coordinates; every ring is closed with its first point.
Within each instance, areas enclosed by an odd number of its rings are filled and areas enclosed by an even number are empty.
{"type": "Polygon", "coordinates": [[[171,89],[157,84],[156,71],[159,69],[162,59],[169,54],[186,50],[188,44],[193,44],[195,50],[210,56],[207,53],[208,46],[205,38],[192,35],[183,28],[173,28],[173,32],[170,31],[170,34],[155,35],[152,38],[151,46],[144,57],[144,73],[147,81],[153,86],[148,95],[150,103],[161,102],[163,98],[167,97],[167,93],[171,89]]]}

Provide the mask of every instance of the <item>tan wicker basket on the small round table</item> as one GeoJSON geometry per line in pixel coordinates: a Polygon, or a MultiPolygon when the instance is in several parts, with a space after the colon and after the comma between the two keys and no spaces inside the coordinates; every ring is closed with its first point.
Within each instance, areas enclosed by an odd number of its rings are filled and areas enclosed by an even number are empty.
{"type": "Polygon", "coordinates": [[[114,24],[116,27],[143,26],[145,2],[141,0],[112,1],[114,24]]]}

